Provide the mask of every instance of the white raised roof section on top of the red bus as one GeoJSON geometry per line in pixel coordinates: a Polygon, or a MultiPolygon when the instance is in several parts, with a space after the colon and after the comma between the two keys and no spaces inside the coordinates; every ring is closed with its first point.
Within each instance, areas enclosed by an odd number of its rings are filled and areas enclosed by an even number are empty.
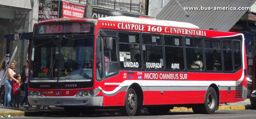
{"type": "Polygon", "coordinates": [[[195,28],[199,29],[198,26],[186,23],[186,22],[177,22],[177,21],[166,21],[158,19],[146,19],[146,18],[135,18],[127,16],[113,16],[113,17],[104,17],[99,18],[100,20],[111,20],[119,22],[130,22],[130,23],[141,23],[141,24],[150,24],[150,25],[161,25],[161,26],[173,26],[173,27],[183,27],[183,28],[195,28]]]}

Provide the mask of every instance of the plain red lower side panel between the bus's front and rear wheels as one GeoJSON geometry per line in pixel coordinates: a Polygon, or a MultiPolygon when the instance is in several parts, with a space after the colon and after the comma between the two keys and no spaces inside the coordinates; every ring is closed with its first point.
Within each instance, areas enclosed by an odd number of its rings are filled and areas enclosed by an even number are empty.
{"type": "Polygon", "coordinates": [[[203,103],[204,95],[205,91],[143,91],[143,105],[203,103]]]}

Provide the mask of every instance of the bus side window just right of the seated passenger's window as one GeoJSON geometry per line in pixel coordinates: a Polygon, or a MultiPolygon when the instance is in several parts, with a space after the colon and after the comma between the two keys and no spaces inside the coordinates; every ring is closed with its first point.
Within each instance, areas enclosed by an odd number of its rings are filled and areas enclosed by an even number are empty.
{"type": "Polygon", "coordinates": [[[220,43],[218,40],[204,40],[205,68],[207,71],[222,71],[220,43]]]}

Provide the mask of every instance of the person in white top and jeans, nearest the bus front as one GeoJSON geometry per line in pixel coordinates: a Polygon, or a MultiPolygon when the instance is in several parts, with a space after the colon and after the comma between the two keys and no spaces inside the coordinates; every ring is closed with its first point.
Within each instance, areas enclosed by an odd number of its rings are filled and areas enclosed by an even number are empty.
{"type": "MultiPolygon", "coordinates": [[[[19,106],[19,109],[20,110],[27,110],[25,107],[23,107],[23,104],[24,104],[24,102],[27,100],[27,98],[28,98],[28,72],[29,72],[29,69],[28,69],[28,64],[27,64],[27,66],[26,66],[26,80],[25,80],[25,82],[23,83],[23,85],[24,85],[24,88],[25,88],[25,95],[24,95],[24,97],[22,98],[22,102],[20,103],[20,106],[19,106]]],[[[31,75],[33,75],[33,72],[30,70],[30,74],[31,75]]],[[[29,106],[29,110],[36,110],[36,108],[34,108],[34,107],[32,107],[32,105],[30,105],[29,104],[29,102],[28,102],[28,106],[29,106]]]]}

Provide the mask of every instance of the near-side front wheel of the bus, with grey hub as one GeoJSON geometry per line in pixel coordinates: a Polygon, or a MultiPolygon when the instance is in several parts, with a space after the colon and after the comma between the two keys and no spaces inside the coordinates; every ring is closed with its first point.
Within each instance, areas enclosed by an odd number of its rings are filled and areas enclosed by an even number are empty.
{"type": "Polygon", "coordinates": [[[138,97],[133,88],[129,88],[125,96],[125,105],[120,108],[120,113],[124,116],[135,115],[138,107],[138,97]]]}

